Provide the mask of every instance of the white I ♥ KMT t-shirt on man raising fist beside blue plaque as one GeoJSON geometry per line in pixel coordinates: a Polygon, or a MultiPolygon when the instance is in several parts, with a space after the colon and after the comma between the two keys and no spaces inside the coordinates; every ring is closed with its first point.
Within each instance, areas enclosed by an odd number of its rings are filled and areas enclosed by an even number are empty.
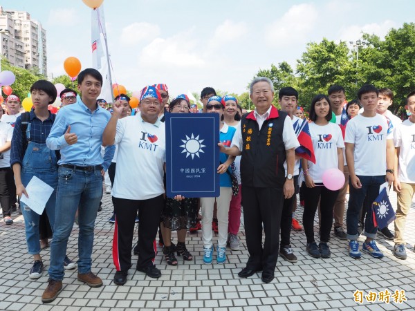
{"type": "Polygon", "coordinates": [[[166,158],[165,124],[142,120],[140,113],[117,122],[116,178],[111,195],[129,200],[147,200],[164,194],[166,158]]]}

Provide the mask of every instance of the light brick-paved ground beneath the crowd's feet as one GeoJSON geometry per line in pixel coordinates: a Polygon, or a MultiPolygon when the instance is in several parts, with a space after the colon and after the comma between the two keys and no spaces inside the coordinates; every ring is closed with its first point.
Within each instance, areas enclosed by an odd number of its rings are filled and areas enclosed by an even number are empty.
{"type": "MultiPolygon", "coordinates": [[[[396,202],[396,194],[391,193],[396,202]]],[[[179,257],[177,267],[165,264],[158,249],[156,265],[163,273],[160,279],[149,279],[145,274],[131,269],[127,284],[113,284],[114,267],[111,257],[113,225],[107,223],[112,212],[111,197],[104,195],[103,210],[98,214],[95,228],[93,272],[103,280],[101,288],[89,288],[77,281],[76,270],[67,272],[64,290],[50,304],[40,299],[48,276],[31,281],[28,270],[32,258],[26,254],[23,217],[13,215],[11,226],[0,223],[0,310],[414,310],[415,309],[415,211],[407,222],[406,261],[391,254],[393,242],[378,238],[378,245],[385,253],[382,259],[363,254],[362,259],[347,256],[347,243],[331,236],[331,258],[311,258],[305,251],[304,232],[293,232],[292,246],[299,261],[295,264],[280,260],[272,283],[261,282],[261,275],[239,279],[237,272],[248,258],[243,225],[241,225],[241,250],[227,251],[225,265],[204,265],[201,232],[188,234],[188,249],[194,261],[183,262],[179,257]],[[381,292],[405,290],[407,301],[402,304],[353,301],[353,292],[369,290],[381,292]]],[[[302,215],[299,208],[297,214],[302,215]]],[[[393,225],[389,226],[391,230],[393,225]]],[[[318,227],[315,227],[317,234],[318,227]]],[[[217,235],[214,235],[216,242],[217,235]]],[[[136,241],[136,239],[135,239],[136,241]]],[[[176,236],[174,235],[174,241],[176,236]]],[[[362,242],[363,238],[360,237],[362,242]]],[[[46,270],[50,249],[42,250],[46,270]]],[[[70,257],[77,256],[77,226],[68,244],[70,257]]],[[[133,256],[133,260],[136,256],[133,256]]]]}

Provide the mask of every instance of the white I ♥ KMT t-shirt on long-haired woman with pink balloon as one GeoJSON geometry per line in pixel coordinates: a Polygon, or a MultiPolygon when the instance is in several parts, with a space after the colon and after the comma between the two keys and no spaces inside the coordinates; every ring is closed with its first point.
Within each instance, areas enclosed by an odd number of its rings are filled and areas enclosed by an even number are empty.
{"type": "Polygon", "coordinates": [[[339,167],[338,148],[344,148],[342,130],[337,124],[308,124],[315,155],[315,164],[308,161],[308,173],[314,182],[323,182],[326,169],[339,167]]]}

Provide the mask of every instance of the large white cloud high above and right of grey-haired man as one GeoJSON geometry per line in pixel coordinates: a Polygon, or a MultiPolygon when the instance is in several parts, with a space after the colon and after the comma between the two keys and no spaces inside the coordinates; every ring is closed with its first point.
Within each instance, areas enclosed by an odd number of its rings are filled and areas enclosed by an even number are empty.
{"type": "Polygon", "coordinates": [[[280,19],[266,28],[266,43],[269,46],[303,44],[313,31],[318,12],[313,4],[292,6],[280,19]]]}

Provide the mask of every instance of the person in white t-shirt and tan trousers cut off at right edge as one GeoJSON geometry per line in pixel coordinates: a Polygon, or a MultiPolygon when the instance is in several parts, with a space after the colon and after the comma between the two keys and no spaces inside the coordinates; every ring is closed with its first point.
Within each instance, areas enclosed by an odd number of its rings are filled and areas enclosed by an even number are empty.
{"type": "Polygon", "coordinates": [[[398,162],[394,167],[394,189],[398,193],[394,255],[400,259],[407,258],[403,233],[415,191],[415,91],[407,96],[405,109],[411,115],[408,120],[396,126],[394,131],[394,144],[398,155],[398,162]]]}

